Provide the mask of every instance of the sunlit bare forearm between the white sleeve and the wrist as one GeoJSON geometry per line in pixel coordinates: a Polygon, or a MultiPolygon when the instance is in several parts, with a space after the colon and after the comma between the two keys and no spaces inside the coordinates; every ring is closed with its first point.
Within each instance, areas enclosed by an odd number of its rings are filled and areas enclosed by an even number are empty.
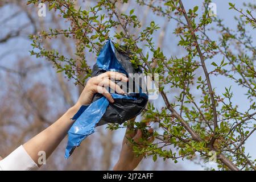
{"type": "MultiPolygon", "coordinates": [[[[46,158],[48,158],[60,144],[61,140],[64,139],[65,135],[67,135],[68,130],[73,125],[71,118],[79,109],[77,107],[71,107],[55,123],[23,144],[24,149],[36,164],[38,164],[38,158],[40,157],[38,155],[39,151],[46,152],[46,158]]],[[[40,165],[38,164],[38,166],[40,165]]]]}

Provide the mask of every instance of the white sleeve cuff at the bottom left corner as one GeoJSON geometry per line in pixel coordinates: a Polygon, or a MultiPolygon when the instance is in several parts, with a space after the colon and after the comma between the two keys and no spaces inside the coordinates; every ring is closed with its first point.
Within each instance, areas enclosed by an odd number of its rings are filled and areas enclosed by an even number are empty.
{"type": "Polygon", "coordinates": [[[0,171],[31,171],[36,169],[38,166],[23,146],[19,146],[5,159],[0,160],[0,171]]]}

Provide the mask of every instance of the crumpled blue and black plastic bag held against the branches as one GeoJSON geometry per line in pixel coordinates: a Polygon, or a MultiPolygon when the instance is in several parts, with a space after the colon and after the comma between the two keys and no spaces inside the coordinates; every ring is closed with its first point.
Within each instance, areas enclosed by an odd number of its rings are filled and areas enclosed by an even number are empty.
{"type": "MultiPolygon", "coordinates": [[[[126,53],[117,51],[111,40],[108,40],[101,49],[97,57],[97,63],[93,66],[92,77],[98,76],[106,71],[124,73],[127,77],[129,77],[129,73],[141,73],[139,68],[134,69],[126,53]]],[[[125,95],[111,93],[115,101],[113,104],[109,103],[102,94],[96,93],[94,94],[92,104],[82,106],[79,109],[72,118],[76,121],[68,131],[68,144],[65,150],[65,158],[69,158],[75,148],[80,146],[82,140],[94,133],[96,126],[106,123],[122,124],[141,113],[147,104],[148,95],[142,92],[141,84],[143,81],[138,82],[134,79],[129,79],[129,82],[130,81],[133,81],[133,85],[139,92],[129,92],[125,95]]],[[[119,81],[115,82],[118,83],[119,81]]],[[[127,85],[129,85],[129,83],[127,83],[127,85]]],[[[129,90],[128,87],[129,86],[122,89],[126,89],[126,92],[129,90]]]]}

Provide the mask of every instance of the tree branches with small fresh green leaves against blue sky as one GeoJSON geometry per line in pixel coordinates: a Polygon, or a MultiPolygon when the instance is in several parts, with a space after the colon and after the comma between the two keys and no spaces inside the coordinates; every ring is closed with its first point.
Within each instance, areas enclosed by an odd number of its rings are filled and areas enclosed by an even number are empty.
{"type": "MultiPolygon", "coordinates": [[[[172,56],[163,51],[161,43],[156,44],[154,36],[156,32],[163,33],[166,27],[160,27],[157,20],[145,24],[138,18],[142,12],[133,7],[119,11],[118,4],[128,0],[100,0],[89,9],[71,0],[32,0],[28,4],[39,2],[47,3],[49,10],[56,11],[68,26],[31,35],[31,55],[45,57],[57,72],[64,72],[76,85],[85,85],[91,76],[86,53],[96,57],[108,39],[114,40],[117,49],[129,53],[134,67],[141,67],[146,75],[159,74],[162,107],[156,108],[155,102],[150,101],[140,121],[124,125],[155,127],[156,142],[143,149],[134,147],[135,152],[152,156],[153,160],[171,159],[175,163],[179,158],[193,160],[200,156],[204,162],[216,162],[219,169],[255,170],[256,160],[245,152],[244,145],[256,129],[256,49],[250,35],[256,26],[255,5],[244,4],[245,8],[241,9],[229,3],[229,11],[240,14],[234,17],[236,30],[232,30],[223,19],[210,15],[209,0],[203,2],[201,13],[200,5],[187,9],[181,0],[137,0],[137,5],[146,6],[164,18],[166,24],[176,22],[172,32],[179,39],[177,46],[185,51],[183,55],[172,56]],[[210,32],[216,32],[217,39],[212,38],[210,32]],[[44,47],[42,40],[63,36],[75,39],[74,57],[44,47]],[[216,58],[220,56],[221,60],[216,58]],[[219,84],[213,84],[213,77],[219,79],[219,84]],[[247,110],[233,104],[236,89],[221,84],[222,77],[245,90],[242,94],[247,96],[247,110]],[[225,92],[218,93],[216,88],[223,88],[225,92]],[[177,97],[172,92],[177,92],[177,97]]],[[[163,38],[159,36],[160,39],[163,38]]],[[[119,127],[109,125],[110,129],[119,127]]]]}

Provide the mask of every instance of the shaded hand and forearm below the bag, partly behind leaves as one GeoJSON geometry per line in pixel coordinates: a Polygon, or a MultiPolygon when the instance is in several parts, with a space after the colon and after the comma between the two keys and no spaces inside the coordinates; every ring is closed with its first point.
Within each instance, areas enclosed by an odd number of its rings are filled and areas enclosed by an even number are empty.
{"type": "MultiPolygon", "coordinates": [[[[153,131],[153,129],[148,129],[149,133],[153,133],[153,131]]],[[[144,147],[142,143],[139,143],[142,138],[142,131],[138,129],[136,133],[127,127],[119,160],[113,168],[114,171],[131,171],[138,166],[143,158],[143,155],[137,156],[133,151],[133,143],[129,141],[130,138],[132,138],[135,143],[138,143],[140,147],[144,147]]],[[[154,137],[147,139],[147,142],[149,143],[152,143],[153,141],[154,137]]]]}

